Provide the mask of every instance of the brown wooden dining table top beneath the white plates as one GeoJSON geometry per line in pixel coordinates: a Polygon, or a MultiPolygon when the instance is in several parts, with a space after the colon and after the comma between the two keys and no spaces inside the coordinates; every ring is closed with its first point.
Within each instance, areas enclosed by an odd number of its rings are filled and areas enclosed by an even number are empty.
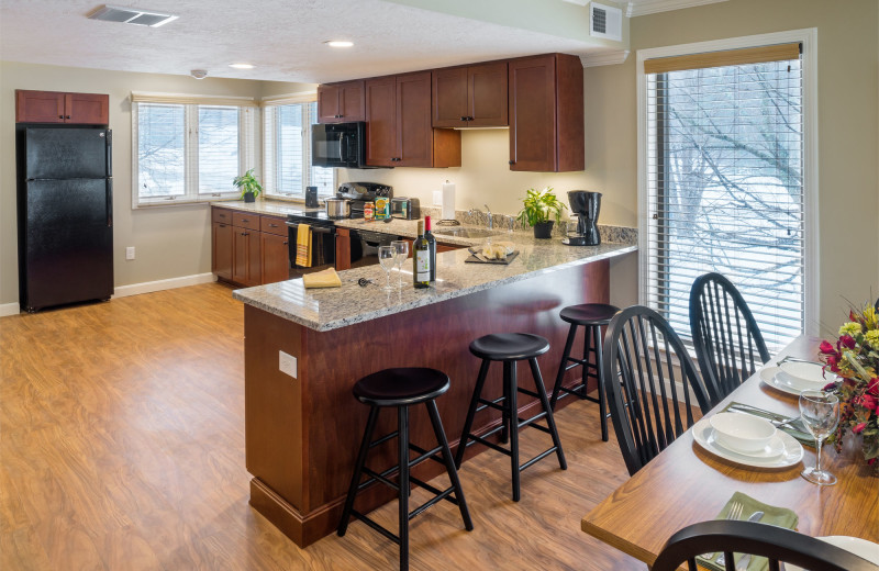
{"type": "MultiPolygon", "coordinates": [[[[797,338],[779,355],[815,358],[817,339],[797,338]]],[[[768,365],[775,365],[772,359],[768,365]]],[[[798,399],[748,379],[710,414],[730,401],[788,416],[799,414],[798,399]]],[[[847,443],[850,444],[850,443],[847,443]]],[[[824,446],[822,464],[836,485],[819,486],[800,477],[814,466],[815,451],[804,447],[799,464],[781,470],[741,467],[717,458],[693,441],[692,430],[675,440],[626,483],[589,512],[581,528],[602,541],[652,566],[677,530],[713,519],[733,492],[788,507],[800,516],[798,529],[810,536],[855,536],[879,542],[879,478],[872,477],[856,446],[836,454],[824,446]]]]}

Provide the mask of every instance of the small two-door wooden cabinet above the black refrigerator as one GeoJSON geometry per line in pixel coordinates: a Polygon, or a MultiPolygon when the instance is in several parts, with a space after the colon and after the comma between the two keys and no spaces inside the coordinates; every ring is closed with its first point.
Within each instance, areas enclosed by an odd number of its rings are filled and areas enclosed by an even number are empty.
{"type": "Polygon", "coordinates": [[[110,96],[15,90],[16,123],[107,125],[110,96]]]}

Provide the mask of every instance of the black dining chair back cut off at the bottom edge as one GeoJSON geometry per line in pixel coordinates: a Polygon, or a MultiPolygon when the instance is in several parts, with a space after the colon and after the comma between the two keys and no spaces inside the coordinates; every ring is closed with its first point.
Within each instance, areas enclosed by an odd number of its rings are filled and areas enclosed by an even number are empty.
{"type": "Polygon", "coordinates": [[[697,556],[716,551],[724,552],[727,571],[736,569],[732,553],[765,557],[769,571],[778,571],[782,562],[814,571],[879,571],[879,566],[814,537],[772,525],[731,520],[701,522],[676,533],[659,552],[653,571],[675,571],[683,563],[697,571],[697,556]]]}

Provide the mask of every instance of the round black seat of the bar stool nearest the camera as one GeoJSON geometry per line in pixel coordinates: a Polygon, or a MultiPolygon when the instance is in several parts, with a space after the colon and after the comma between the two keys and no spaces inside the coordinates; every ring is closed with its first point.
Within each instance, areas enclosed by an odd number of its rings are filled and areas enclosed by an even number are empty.
{"type": "Polygon", "coordinates": [[[436,369],[410,367],[367,374],[354,384],[354,396],[375,406],[408,406],[436,399],[448,390],[448,376],[436,369]]]}

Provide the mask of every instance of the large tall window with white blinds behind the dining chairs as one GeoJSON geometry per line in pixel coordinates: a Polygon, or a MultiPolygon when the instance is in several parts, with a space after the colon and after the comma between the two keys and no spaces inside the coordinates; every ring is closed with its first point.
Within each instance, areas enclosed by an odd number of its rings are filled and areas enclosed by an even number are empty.
{"type": "Polygon", "coordinates": [[[646,296],[683,338],[690,288],[711,271],[738,288],[770,349],[804,331],[799,52],[645,61],[646,296]]]}

